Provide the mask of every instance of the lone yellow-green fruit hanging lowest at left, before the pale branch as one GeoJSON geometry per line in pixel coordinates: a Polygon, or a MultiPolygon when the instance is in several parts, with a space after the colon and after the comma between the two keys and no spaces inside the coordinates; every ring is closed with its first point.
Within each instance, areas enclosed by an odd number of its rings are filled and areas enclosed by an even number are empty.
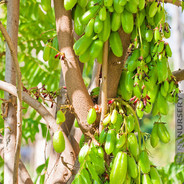
{"type": "Polygon", "coordinates": [[[53,136],[53,147],[57,153],[65,150],[65,139],[62,131],[56,131],[53,136]]]}

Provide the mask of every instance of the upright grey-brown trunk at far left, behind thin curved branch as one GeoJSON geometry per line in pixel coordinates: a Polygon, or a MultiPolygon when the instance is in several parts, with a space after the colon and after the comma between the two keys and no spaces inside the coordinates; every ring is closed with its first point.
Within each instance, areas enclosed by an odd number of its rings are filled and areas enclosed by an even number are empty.
{"type": "MultiPolygon", "coordinates": [[[[17,52],[18,40],[18,24],[19,24],[19,0],[9,0],[7,3],[7,32],[12,39],[17,52]]],[[[5,81],[16,85],[16,72],[14,62],[6,45],[6,70],[5,81]]],[[[14,156],[15,156],[15,143],[16,143],[16,98],[10,94],[5,93],[5,99],[11,100],[7,104],[4,112],[7,111],[4,126],[4,183],[13,183],[13,169],[14,169],[14,156]]]]}

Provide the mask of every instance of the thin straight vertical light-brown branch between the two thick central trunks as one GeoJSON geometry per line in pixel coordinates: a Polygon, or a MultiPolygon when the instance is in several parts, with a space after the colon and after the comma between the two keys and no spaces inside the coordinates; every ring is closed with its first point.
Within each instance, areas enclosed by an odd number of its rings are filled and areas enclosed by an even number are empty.
{"type": "Polygon", "coordinates": [[[102,131],[102,120],[107,114],[107,70],[108,70],[108,41],[104,44],[103,62],[102,62],[102,91],[101,91],[101,118],[99,125],[99,133],[102,131]]]}

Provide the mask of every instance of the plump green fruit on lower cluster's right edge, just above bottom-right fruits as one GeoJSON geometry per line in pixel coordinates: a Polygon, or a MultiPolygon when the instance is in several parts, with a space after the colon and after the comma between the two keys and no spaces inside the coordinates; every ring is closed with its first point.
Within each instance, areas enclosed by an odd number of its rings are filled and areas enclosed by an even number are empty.
{"type": "Polygon", "coordinates": [[[150,172],[150,161],[146,151],[142,151],[139,155],[139,166],[143,173],[150,172]]]}

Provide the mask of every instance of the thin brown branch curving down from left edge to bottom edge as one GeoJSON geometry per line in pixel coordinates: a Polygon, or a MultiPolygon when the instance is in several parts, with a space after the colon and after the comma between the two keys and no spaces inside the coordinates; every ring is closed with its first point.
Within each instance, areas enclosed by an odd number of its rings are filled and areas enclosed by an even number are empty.
{"type": "Polygon", "coordinates": [[[15,69],[17,73],[17,138],[16,138],[16,151],[15,151],[15,159],[14,159],[14,171],[13,171],[13,183],[18,183],[18,166],[19,166],[19,157],[20,157],[20,148],[21,148],[21,138],[22,138],[22,93],[21,93],[21,72],[17,59],[16,50],[11,41],[10,36],[8,35],[6,29],[2,25],[0,21],[0,30],[8,44],[8,47],[11,52],[11,56],[13,58],[15,69]]]}

